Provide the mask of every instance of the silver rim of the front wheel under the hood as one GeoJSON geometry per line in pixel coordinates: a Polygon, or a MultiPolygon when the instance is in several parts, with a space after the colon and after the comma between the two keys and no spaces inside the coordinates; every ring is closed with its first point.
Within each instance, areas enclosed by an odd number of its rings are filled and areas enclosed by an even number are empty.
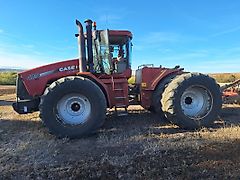
{"type": "Polygon", "coordinates": [[[58,101],[57,112],[59,119],[64,124],[83,124],[90,116],[91,104],[83,95],[68,94],[58,101]]]}

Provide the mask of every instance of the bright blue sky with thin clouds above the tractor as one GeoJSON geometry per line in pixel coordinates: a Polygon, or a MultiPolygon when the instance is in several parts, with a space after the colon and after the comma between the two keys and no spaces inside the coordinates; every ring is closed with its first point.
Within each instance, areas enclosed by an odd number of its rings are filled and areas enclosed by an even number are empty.
{"type": "Polygon", "coordinates": [[[133,69],[240,72],[240,1],[0,0],[0,67],[33,68],[78,56],[75,19],[127,29],[133,69]]]}

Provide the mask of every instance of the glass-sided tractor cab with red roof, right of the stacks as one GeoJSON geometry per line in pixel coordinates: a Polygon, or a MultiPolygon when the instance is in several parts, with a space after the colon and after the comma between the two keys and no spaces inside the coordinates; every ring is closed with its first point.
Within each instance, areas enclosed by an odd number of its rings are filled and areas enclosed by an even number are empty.
{"type": "Polygon", "coordinates": [[[95,73],[119,74],[131,69],[131,32],[99,30],[94,32],[94,36],[93,64],[95,73]]]}

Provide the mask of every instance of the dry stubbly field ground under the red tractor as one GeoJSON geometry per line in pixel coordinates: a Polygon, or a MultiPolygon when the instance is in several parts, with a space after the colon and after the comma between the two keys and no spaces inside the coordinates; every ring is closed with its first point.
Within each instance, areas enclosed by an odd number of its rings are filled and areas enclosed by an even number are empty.
{"type": "Polygon", "coordinates": [[[0,94],[0,179],[240,178],[239,105],[223,105],[214,127],[199,131],[134,106],[128,116],[108,115],[96,134],[69,140],[49,134],[38,113],[15,113],[12,89],[0,94]]]}

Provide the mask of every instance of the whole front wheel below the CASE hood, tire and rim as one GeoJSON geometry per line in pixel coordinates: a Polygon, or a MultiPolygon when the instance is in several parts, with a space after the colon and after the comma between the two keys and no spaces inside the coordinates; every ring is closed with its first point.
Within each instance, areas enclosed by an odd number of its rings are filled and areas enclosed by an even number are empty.
{"type": "Polygon", "coordinates": [[[78,138],[100,127],[106,117],[101,89],[82,77],[65,77],[52,83],[40,102],[40,117],[56,136],[78,138]]]}

